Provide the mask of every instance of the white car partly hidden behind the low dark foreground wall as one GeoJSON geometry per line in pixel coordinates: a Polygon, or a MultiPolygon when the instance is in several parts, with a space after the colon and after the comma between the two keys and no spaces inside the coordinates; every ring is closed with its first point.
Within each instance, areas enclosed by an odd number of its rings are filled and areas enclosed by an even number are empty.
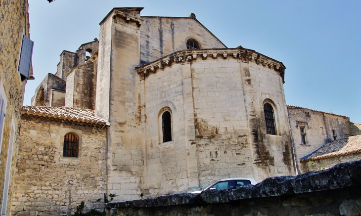
{"type": "Polygon", "coordinates": [[[248,184],[252,184],[252,185],[256,185],[258,182],[254,179],[254,178],[225,178],[225,179],[221,179],[218,180],[214,183],[212,183],[211,185],[202,188],[201,190],[197,190],[197,191],[193,191],[191,193],[200,193],[204,190],[221,190],[221,189],[226,189],[228,187],[233,187],[233,186],[243,186],[243,185],[248,185],[248,184]]]}

